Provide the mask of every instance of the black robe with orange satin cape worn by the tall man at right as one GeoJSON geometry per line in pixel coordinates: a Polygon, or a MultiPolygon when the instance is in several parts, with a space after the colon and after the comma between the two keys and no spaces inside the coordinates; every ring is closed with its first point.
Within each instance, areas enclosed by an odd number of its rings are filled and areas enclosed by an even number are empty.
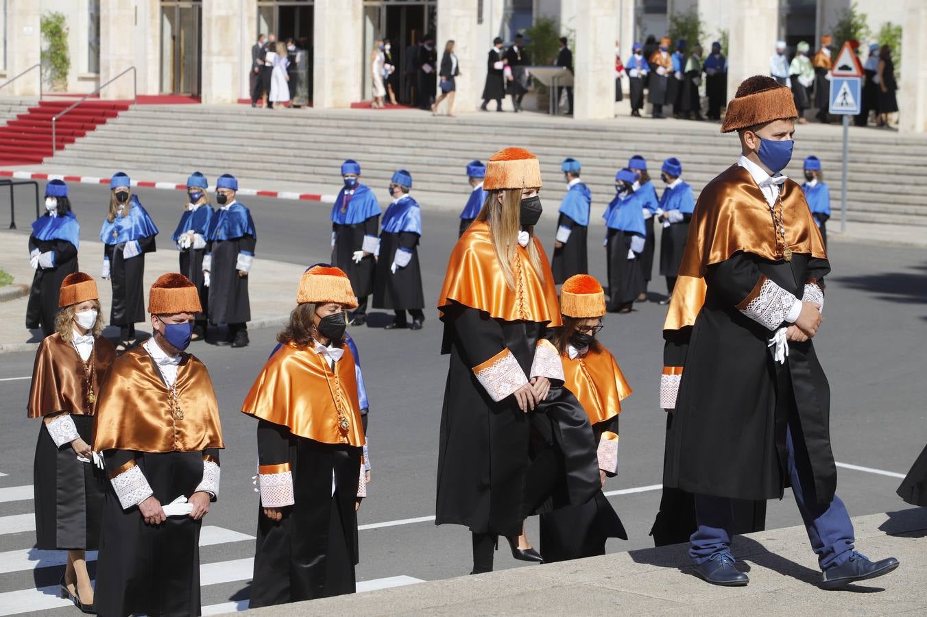
{"type": "Polygon", "coordinates": [[[742,313],[766,280],[801,299],[806,284],[830,271],[801,187],[784,183],[780,203],[786,235],[777,243],[768,203],[747,170],[730,167],[699,196],[679,268],[680,293],[664,327],[667,349],[676,347],[667,353],[683,362],[667,419],[668,488],[734,499],[781,497],[789,483],[785,434],[792,417],[801,423],[818,501],[834,495],[830,390],[812,341],[790,343],[785,364],[776,363],[768,349],[774,332],[742,313]]]}

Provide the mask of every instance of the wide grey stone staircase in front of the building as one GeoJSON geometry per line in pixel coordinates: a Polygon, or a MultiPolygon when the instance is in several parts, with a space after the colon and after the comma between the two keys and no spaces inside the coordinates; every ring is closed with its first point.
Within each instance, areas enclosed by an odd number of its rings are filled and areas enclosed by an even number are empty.
{"type": "MultiPolygon", "coordinates": [[[[831,185],[834,217],[839,216],[839,126],[797,129],[794,162],[786,173],[802,178],[801,161],[821,159],[831,185]]],[[[274,183],[340,186],[338,165],[352,157],[362,164],[362,182],[384,189],[393,170],[412,172],[415,191],[431,204],[463,206],[464,168],[484,162],[506,145],[519,145],[540,157],[548,208],[565,188],[564,157],[582,162],[582,177],[593,195],[593,217],[614,195],[614,177],[633,154],[650,162],[657,178],[663,158],[679,157],[683,177],[696,193],[733,163],[734,135],[721,135],[717,123],[619,118],[575,121],[539,114],[468,114],[434,118],[414,110],[260,110],[233,106],[135,106],[57,152],[57,167],[140,170],[159,180],[183,182],[192,170],[210,178],[229,172],[274,183]],[[447,203],[444,203],[447,200],[447,203]]],[[[847,208],[849,220],[919,225],[927,228],[927,136],[851,127],[847,208]]],[[[48,162],[48,161],[46,161],[48,162]]]]}

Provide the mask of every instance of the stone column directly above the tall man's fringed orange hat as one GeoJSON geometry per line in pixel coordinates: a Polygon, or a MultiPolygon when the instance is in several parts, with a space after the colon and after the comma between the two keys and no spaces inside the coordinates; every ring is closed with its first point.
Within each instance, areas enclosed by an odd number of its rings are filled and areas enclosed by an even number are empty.
{"type": "Polygon", "coordinates": [[[769,74],[769,57],[776,47],[779,32],[779,0],[750,0],[730,3],[728,25],[730,49],[728,98],[737,86],[753,75],[769,74]]]}

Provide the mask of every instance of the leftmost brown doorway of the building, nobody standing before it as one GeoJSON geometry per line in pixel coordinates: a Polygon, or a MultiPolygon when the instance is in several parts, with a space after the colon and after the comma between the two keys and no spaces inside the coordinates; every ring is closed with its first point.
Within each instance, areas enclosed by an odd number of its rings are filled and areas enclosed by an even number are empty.
{"type": "Polygon", "coordinates": [[[199,0],[161,0],[161,93],[199,95],[199,0]]]}

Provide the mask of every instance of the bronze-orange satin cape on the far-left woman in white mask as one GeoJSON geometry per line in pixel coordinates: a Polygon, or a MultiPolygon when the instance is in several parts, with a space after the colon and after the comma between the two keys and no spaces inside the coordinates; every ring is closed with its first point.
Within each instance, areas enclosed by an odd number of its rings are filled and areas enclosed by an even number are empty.
{"type": "MultiPolygon", "coordinates": [[[[116,348],[107,339],[94,339],[94,394],[99,401],[100,386],[105,381],[109,366],[116,359],[116,348]]],[[[86,400],[83,360],[73,345],[60,334],[52,334],[42,341],[32,367],[32,387],[29,390],[30,418],[42,418],[58,411],[75,416],[92,416],[96,403],[86,400]]]]}

